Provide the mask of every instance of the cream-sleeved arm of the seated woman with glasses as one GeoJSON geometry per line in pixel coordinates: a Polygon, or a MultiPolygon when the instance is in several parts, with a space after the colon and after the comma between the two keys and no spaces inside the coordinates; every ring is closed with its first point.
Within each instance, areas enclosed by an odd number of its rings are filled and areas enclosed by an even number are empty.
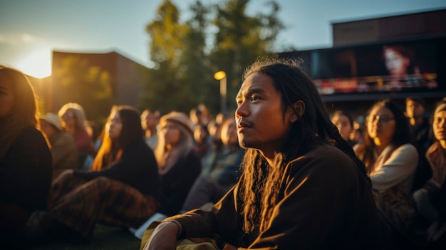
{"type": "Polygon", "coordinates": [[[411,144],[401,145],[392,152],[392,155],[384,162],[380,171],[370,176],[373,188],[385,190],[403,182],[410,175],[413,175],[417,165],[417,149],[411,144]]]}

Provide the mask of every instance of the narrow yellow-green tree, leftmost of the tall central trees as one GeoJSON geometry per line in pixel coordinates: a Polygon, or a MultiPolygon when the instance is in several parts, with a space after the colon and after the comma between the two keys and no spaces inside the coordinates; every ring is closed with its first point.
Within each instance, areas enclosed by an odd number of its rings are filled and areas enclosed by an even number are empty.
{"type": "Polygon", "coordinates": [[[157,9],[155,20],[146,26],[151,38],[150,58],[155,69],[149,72],[146,85],[149,94],[142,97],[145,105],[152,109],[167,112],[187,111],[194,93],[192,83],[184,81],[182,69],[184,39],[190,28],[180,24],[180,13],[171,1],[165,0],[157,9]]]}

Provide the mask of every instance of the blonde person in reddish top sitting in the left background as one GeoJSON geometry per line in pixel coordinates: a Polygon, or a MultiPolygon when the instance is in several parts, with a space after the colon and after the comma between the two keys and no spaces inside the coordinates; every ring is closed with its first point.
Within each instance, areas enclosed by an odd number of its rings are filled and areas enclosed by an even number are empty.
{"type": "Polygon", "coordinates": [[[78,103],[66,103],[58,111],[58,116],[62,119],[62,127],[68,134],[73,136],[76,142],[76,149],[79,155],[79,165],[83,168],[85,159],[95,155],[93,140],[88,135],[87,120],[85,112],[78,103]]]}

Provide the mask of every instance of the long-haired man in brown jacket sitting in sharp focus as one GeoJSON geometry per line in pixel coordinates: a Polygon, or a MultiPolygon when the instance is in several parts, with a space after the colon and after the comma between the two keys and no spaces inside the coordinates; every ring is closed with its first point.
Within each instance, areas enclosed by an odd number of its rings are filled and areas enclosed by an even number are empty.
{"type": "Polygon", "coordinates": [[[243,80],[235,119],[247,152],[239,182],[211,212],[162,221],[142,248],[210,237],[214,249],[380,249],[365,166],[299,62],[258,60],[243,80]]]}

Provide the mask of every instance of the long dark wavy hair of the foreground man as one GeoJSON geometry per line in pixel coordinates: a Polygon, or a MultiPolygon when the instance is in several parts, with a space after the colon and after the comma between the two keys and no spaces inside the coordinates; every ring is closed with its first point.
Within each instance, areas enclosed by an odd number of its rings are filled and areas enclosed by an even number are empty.
{"type": "MultiPolygon", "coordinates": [[[[353,149],[331,123],[323,100],[311,78],[300,68],[300,61],[291,59],[257,60],[244,71],[243,80],[253,73],[269,75],[274,88],[281,95],[282,112],[286,108],[294,108],[293,104],[301,100],[305,110],[301,117],[292,123],[286,141],[274,158],[274,167],[268,167],[266,160],[256,149],[247,149],[242,162],[244,176],[241,194],[244,197],[244,231],[258,233],[265,229],[272,216],[279,195],[280,178],[284,175],[284,167],[289,161],[304,155],[316,144],[323,142],[334,145],[356,162],[358,170],[368,179],[365,166],[356,157],[353,149]],[[256,196],[257,194],[263,194],[256,196]],[[260,226],[259,226],[260,224],[260,226]]],[[[294,109],[296,114],[299,114],[294,109]]],[[[370,179],[368,179],[370,187],[370,179]]]]}

